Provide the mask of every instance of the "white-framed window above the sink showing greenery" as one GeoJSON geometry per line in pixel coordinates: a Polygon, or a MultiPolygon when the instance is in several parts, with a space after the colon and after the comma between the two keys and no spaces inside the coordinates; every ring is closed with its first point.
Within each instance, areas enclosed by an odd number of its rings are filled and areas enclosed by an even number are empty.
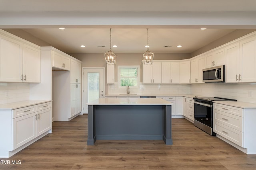
{"type": "Polygon", "coordinates": [[[140,66],[118,66],[118,86],[138,87],[140,66]]]}

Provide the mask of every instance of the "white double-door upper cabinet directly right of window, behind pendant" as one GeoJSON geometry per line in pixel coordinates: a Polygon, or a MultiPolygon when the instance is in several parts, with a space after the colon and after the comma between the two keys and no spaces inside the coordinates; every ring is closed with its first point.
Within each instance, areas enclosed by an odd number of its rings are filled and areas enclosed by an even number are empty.
{"type": "Polygon", "coordinates": [[[161,83],[162,62],[153,61],[150,65],[143,64],[143,83],[159,84],[161,83]]]}

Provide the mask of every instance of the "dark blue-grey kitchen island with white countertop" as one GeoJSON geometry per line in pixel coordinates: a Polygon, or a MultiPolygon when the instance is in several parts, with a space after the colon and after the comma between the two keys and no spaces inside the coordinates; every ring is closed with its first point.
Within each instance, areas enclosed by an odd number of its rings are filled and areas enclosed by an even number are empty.
{"type": "Polygon", "coordinates": [[[88,140],[164,140],[172,145],[172,103],[160,98],[100,98],[88,103],[88,140]]]}

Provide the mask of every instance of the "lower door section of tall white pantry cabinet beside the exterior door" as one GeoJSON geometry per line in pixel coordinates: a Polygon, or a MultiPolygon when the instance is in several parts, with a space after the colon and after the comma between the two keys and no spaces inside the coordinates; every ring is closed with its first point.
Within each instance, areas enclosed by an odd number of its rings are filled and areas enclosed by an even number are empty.
{"type": "Polygon", "coordinates": [[[70,117],[81,112],[81,84],[70,84],[70,117]]]}

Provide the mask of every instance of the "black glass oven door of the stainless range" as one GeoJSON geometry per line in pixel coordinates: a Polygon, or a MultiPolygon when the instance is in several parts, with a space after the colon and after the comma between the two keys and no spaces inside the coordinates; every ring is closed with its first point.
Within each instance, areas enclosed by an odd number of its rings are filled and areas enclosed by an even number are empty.
{"type": "Polygon", "coordinates": [[[213,127],[213,109],[211,104],[205,104],[201,102],[194,102],[195,119],[204,125],[213,127]]]}

